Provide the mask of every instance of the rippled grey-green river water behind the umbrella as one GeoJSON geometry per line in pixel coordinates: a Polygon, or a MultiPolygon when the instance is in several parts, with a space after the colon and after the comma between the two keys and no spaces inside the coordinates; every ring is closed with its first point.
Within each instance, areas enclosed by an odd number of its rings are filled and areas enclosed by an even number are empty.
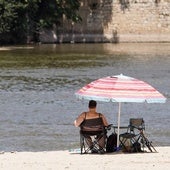
{"type": "MultiPolygon", "coordinates": [[[[165,104],[123,103],[121,125],[143,117],[157,146],[170,146],[170,44],[62,44],[0,51],[0,150],[76,148],[75,117],[87,109],[74,93],[85,84],[123,73],[150,83],[165,104]]],[[[117,124],[117,103],[98,103],[117,124]]]]}

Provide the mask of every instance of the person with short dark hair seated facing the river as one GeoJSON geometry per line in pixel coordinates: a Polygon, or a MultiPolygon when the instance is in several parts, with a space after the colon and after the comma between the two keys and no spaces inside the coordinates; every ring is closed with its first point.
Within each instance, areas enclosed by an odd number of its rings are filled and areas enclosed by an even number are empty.
{"type": "MultiPolygon", "coordinates": [[[[104,131],[104,128],[108,126],[108,122],[105,116],[101,113],[96,112],[97,102],[94,100],[89,101],[89,111],[81,113],[78,118],[74,121],[76,127],[80,127],[81,131],[84,133],[84,137],[87,145],[93,152],[93,141],[91,136],[100,134],[104,131]],[[99,132],[99,133],[98,133],[99,132]]],[[[100,148],[105,148],[106,134],[103,133],[102,136],[97,135],[98,144],[100,148]]]]}

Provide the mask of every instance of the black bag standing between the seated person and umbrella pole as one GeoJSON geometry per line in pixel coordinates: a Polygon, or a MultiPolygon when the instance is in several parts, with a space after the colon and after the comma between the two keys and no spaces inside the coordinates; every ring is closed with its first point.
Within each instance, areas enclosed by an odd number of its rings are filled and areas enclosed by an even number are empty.
{"type": "Polygon", "coordinates": [[[106,152],[115,152],[116,146],[117,146],[117,134],[112,133],[107,139],[106,152]]]}

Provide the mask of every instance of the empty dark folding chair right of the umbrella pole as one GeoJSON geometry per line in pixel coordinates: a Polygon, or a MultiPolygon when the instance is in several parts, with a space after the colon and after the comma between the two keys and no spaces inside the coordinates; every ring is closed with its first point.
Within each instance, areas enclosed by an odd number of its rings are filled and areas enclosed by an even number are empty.
{"type": "Polygon", "coordinates": [[[119,136],[120,145],[123,150],[126,152],[144,152],[144,148],[147,147],[151,152],[153,150],[157,152],[152,142],[144,135],[144,131],[145,122],[143,118],[131,118],[127,132],[119,136]]]}

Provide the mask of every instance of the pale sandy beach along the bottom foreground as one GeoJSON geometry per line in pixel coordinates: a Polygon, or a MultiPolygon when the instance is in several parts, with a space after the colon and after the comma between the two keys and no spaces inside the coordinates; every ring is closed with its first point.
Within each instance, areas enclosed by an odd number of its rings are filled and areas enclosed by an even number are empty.
{"type": "Polygon", "coordinates": [[[69,151],[5,152],[0,154],[1,170],[167,170],[170,147],[157,147],[158,153],[84,154],[69,151]]]}

